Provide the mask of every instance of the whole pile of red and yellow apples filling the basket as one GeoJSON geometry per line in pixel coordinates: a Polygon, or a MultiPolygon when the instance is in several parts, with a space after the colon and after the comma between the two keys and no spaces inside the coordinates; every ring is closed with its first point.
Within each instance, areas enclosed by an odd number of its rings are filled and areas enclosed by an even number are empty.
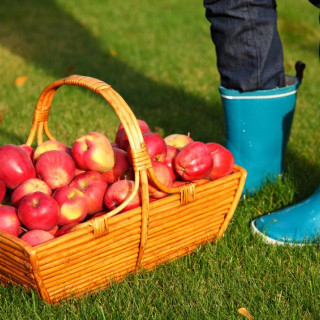
{"type": "MultiPolygon", "coordinates": [[[[220,144],[189,135],[162,138],[138,120],[158,180],[175,187],[199,179],[215,180],[232,172],[234,158],[220,144]]],[[[134,187],[130,145],[122,125],[114,143],[98,132],[71,147],[47,140],[36,148],[0,147],[0,230],[31,246],[61,236],[77,224],[118,207],[134,187]]],[[[149,178],[150,201],[167,194],[149,178]]],[[[138,192],[122,210],[141,205],[138,192]]]]}

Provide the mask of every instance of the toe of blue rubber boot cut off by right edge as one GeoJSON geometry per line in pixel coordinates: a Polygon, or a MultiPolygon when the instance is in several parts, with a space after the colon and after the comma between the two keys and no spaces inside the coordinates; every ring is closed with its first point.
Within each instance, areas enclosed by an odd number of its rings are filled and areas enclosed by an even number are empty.
{"type": "Polygon", "coordinates": [[[302,202],[253,220],[251,228],[271,244],[319,243],[320,187],[302,202]]]}

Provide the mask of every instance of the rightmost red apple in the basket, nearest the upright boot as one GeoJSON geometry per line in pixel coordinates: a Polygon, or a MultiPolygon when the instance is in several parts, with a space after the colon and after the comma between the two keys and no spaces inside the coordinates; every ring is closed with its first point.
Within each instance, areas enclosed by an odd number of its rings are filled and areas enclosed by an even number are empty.
{"type": "Polygon", "coordinates": [[[207,143],[207,147],[213,160],[213,169],[209,178],[211,180],[216,180],[230,174],[234,166],[233,154],[228,149],[215,142],[207,143]]]}

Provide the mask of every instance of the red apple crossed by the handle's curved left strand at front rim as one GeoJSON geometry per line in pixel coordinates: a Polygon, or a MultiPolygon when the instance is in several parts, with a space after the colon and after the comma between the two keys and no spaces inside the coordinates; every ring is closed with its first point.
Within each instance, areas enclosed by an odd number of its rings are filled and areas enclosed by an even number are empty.
{"type": "MultiPolygon", "coordinates": [[[[117,208],[120,204],[122,204],[132,193],[134,189],[134,181],[132,180],[119,180],[114,182],[109,188],[107,189],[104,195],[104,204],[109,210],[113,210],[117,208]]],[[[133,197],[133,199],[128,203],[123,211],[127,211],[133,208],[140,206],[141,197],[140,193],[133,197]]]]}

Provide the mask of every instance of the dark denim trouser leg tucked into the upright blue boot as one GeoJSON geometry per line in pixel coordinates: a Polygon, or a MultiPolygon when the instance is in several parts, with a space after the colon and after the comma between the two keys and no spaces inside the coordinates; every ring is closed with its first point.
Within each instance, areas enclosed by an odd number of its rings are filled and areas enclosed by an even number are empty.
{"type": "Polygon", "coordinates": [[[204,0],[221,85],[255,91],[285,86],[275,0],[204,0]]]}

